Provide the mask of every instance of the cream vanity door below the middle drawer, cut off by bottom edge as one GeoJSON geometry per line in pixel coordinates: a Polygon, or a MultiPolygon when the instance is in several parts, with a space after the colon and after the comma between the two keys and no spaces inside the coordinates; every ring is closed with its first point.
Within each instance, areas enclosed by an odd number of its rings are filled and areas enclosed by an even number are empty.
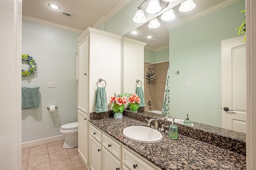
{"type": "Polygon", "coordinates": [[[122,163],[104,147],[102,150],[102,170],[122,170],[122,163]]]}

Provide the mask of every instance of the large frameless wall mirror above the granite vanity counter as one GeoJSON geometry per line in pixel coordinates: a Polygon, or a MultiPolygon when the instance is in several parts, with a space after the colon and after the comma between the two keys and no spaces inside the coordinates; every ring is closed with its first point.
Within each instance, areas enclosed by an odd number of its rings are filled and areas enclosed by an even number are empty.
{"type": "Polygon", "coordinates": [[[124,92],[135,91],[140,79],[145,111],[183,120],[188,114],[195,127],[234,130],[245,140],[246,53],[244,34],[235,30],[244,20],[245,1],[194,3],[189,12],[172,8],[171,21],[159,15],[158,28],[147,22],[124,35],[124,92]],[[136,75],[127,60],[139,64],[131,66],[136,75]]]}

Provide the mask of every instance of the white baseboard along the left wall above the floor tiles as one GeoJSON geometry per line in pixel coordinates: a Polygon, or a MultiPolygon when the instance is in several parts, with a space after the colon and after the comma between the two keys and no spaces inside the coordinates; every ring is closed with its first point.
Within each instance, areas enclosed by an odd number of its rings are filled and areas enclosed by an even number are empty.
{"type": "Polygon", "coordinates": [[[33,146],[38,146],[38,145],[41,145],[41,144],[47,144],[47,143],[50,143],[50,142],[56,142],[56,141],[64,140],[64,139],[65,139],[65,135],[61,134],[61,135],[52,136],[52,137],[49,137],[49,138],[43,138],[43,139],[33,140],[33,141],[29,141],[29,142],[24,142],[24,143],[22,143],[22,149],[30,148],[30,147],[33,147],[33,146]]]}

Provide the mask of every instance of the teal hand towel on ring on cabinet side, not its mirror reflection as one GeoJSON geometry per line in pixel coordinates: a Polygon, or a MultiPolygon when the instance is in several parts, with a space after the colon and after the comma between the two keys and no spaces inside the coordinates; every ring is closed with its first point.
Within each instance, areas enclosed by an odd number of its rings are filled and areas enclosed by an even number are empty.
{"type": "Polygon", "coordinates": [[[108,111],[105,87],[98,87],[96,92],[96,113],[108,111]]]}

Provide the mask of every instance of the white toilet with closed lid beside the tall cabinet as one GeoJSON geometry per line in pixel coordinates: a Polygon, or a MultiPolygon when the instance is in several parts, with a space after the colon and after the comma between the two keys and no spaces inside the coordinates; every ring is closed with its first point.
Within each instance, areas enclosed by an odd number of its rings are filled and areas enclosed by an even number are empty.
{"type": "Polygon", "coordinates": [[[65,134],[63,148],[75,148],[78,146],[78,122],[62,125],[60,133],[65,134]]]}

